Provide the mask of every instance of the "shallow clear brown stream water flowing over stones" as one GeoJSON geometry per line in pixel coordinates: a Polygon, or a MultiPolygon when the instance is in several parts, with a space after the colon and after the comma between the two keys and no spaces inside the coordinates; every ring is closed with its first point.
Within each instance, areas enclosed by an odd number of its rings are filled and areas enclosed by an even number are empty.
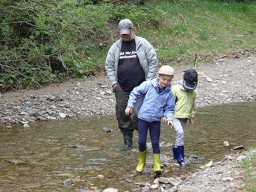
{"type": "MultiPolygon", "coordinates": [[[[230,149],[256,144],[256,102],[241,102],[196,109],[195,124],[185,135],[185,167],[163,167],[163,177],[194,172],[213,160],[232,154],[230,149]],[[229,147],[223,141],[230,143],[229,147]]],[[[131,191],[136,182],[152,182],[153,154],[148,136],[147,164],[136,173],[138,133],[132,150],[124,147],[115,116],[31,123],[23,129],[0,127],[0,191],[131,191]],[[112,132],[111,132],[112,131],[112,132]]],[[[175,131],[161,128],[161,163],[175,163],[175,131]]]]}

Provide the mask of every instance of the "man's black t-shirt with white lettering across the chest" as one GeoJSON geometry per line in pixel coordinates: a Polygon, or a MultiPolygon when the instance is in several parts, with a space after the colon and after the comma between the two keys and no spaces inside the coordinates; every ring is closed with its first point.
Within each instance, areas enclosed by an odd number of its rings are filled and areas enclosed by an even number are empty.
{"type": "Polygon", "coordinates": [[[117,75],[118,84],[125,92],[131,92],[134,87],[145,81],[145,73],[140,66],[134,39],[122,42],[117,75]]]}

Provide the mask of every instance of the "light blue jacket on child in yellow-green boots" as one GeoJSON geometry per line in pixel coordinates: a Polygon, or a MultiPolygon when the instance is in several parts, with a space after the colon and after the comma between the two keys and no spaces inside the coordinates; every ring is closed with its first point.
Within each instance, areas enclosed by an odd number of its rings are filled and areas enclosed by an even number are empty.
{"type": "Polygon", "coordinates": [[[160,122],[165,115],[165,120],[173,120],[175,100],[171,84],[166,86],[162,93],[158,90],[158,78],[153,77],[148,81],[144,81],[140,86],[136,86],[127,102],[127,107],[133,108],[136,99],[143,95],[141,101],[138,118],[147,122],[160,122]]]}

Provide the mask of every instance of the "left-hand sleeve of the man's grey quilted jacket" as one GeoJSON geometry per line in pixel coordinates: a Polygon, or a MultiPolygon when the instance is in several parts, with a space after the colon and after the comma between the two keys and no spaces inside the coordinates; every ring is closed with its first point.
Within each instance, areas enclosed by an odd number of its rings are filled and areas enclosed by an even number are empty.
{"type": "Polygon", "coordinates": [[[108,79],[111,83],[111,86],[113,86],[113,84],[117,83],[117,79],[116,79],[116,69],[115,69],[115,52],[116,52],[116,45],[113,44],[109,51],[108,51],[108,56],[106,58],[105,61],[105,68],[106,68],[106,73],[108,76],[108,79]]]}

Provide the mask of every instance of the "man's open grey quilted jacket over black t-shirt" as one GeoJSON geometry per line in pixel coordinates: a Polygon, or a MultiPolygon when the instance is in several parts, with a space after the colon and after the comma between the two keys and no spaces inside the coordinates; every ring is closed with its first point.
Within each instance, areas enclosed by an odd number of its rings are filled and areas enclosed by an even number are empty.
{"type": "MultiPolygon", "coordinates": [[[[157,70],[157,56],[156,51],[152,45],[143,37],[136,36],[134,34],[135,44],[136,44],[136,52],[140,61],[140,65],[145,72],[145,79],[148,80],[151,77],[156,76],[157,70]]],[[[106,72],[111,83],[117,83],[117,68],[119,63],[119,56],[122,46],[122,38],[117,40],[109,49],[108,56],[105,62],[106,72]]]]}

